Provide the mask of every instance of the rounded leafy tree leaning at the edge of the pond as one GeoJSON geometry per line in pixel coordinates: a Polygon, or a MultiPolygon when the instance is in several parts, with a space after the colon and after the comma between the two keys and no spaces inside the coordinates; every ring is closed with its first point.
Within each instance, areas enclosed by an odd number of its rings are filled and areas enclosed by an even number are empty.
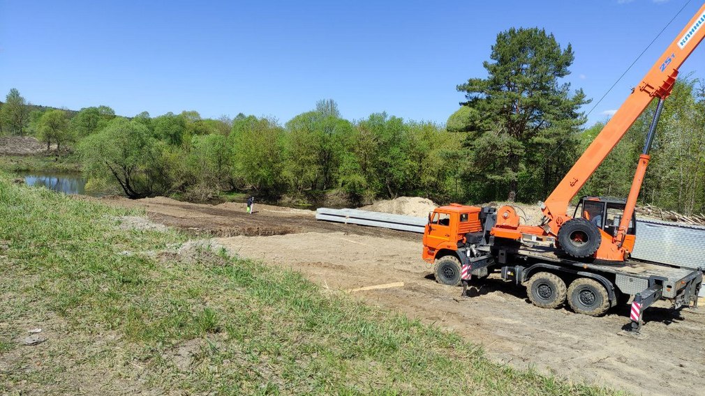
{"type": "Polygon", "coordinates": [[[133,199],[164,192],[157,166],[160,152],[145,125],[125,118],[115,118],[79,146],[89,180],[112,178],[133,199]]]}

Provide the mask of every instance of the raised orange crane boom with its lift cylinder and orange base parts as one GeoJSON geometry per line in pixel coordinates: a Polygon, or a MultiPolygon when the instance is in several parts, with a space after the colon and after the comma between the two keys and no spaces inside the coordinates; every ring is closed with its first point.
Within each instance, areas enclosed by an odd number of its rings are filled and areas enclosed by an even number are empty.
{"type": "MultiPolygon", "coordinates": [[[[649,133],[644,144],[644,151],[639,156],[637,171],[635,172],[632,187],[625,204],[624,215],[621,218],[616,235],[608,235],[601,231],[601,246],[596,252],[597,259],[607,261],[623,261],[630,253],[630,247],[623,247],[627,227],[632,220],[639,190],[642,187],[646,166],[649,164],[649,149],[656,132],[658,116],[663,109],[663,101],[668,97],[673,89],[675,79],[678,76],[678,68],[688,58],[692,51],[700,44],[705,37],[705,4],[703,4],[691,20],[685,25],[683,30],[671,42],[663,55],[658,58],[642,82],[632,90],[632,94],[620,106],[620,109],[612,116],[603,130],[595,137],[593,142],[587,147],[563,180],[558,183],[546,202],[541,205],[544,214],[544,223],[539,227],[529,227],[518,225],[517,219],[507,211],[507,216],[498,218],[498,228],[493,230],[494,235],[500,237],[514,237],[523,234],[553,235],[559,236],[560,228],[568,221],[573,220],[566,211],[571,199],[580,191],[580,188],[587,182],[587,179],[594,173],[606,156],[614,149],[617,143],[624,137],[627,130],[632,126],[637,118],[644,112],[654,98],[658,98],[658,106],[654,115],[654,120],[649,128],[649,133]]],[[[502,212],[502,210],[500,211],[502,212]]],[[[589,231],[589,230],[587,230],[589,231]]],[[[589,232],[587,233],[589,234],[589,232]]],[[[585,238],[588,235],[576,234],[577,237],[585,238]]],[[[560,237],[559,237],[560,240],[560,237]]],[[[584,242],[584,241],[580,241],[584,242]]],[[[633,245],[632,245],[633,246],[633,245]]],[[[568,252],[570,254],[570,252],[568,252]]]]}

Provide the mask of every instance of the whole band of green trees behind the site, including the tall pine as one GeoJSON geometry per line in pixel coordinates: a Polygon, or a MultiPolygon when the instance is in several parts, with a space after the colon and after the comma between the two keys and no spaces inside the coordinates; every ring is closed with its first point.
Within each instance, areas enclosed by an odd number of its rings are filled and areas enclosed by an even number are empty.
{"type": "MultiPolygon", "coordinates": [[[[195,111],[126,118],[107,106],[32,108],[12,89],[0,107],[0,132],[35,135],[48,149],[71,146],[91,185],[117,185],[133,198],[205,200],[247,191],[272,199],[332,192],[353,204],[401,195],[537,202],[603,126],[584,128],[580,109],[589,99],[565,82],[573,58],[570,44],[562,47],[545,30],[499,33],[484,62],[486,77],[456,87],[466,101],[446,125],[384,112],[347,120],[332,99],[286,123],[242,113],[208,119],[195,111]]],[[[637,120],[584,194],[625,197],[652,113],[637,120]]],[[[704,124],[704,86],[696,78],[678,80],[641,202],[705,211],[704,124]]]]}

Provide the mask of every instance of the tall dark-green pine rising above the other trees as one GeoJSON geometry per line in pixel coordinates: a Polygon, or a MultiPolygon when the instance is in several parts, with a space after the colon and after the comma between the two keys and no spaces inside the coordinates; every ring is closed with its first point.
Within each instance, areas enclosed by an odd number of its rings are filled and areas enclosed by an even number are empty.
{"type": "Polygon", "coordinates": [[[468,169],[482,172],[466,173],[466,178],[494,184],[496,194],[505,193],[514,201],[521,175],[533,160],[532,149],[557,147],[563,137],[577,133],[584,123],[578,109],[587,100],[582,89],[571,94],[570,84],[559,82],[570,73],[572,49],[570,44],[562,49],[545,30],[511,28],[499,33],[490,58],[483,63],[487,78],[458,85],[466,93],[464,105],[482,117],[466,117],[470,125],[453,128],[470,131],[467,147],[474,163],[468,169]]]}

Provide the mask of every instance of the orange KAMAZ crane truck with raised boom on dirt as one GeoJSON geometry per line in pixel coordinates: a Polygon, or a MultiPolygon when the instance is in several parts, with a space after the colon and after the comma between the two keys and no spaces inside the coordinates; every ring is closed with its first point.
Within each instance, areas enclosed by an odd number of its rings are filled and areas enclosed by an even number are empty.
{"type": "Polygon", "coordinates": [[[658,299],[670,299],[675,308],[697,307],[704,268],[638,261],[630,253],[634,209],[664,100],[678,68],[704,37],[705,4],[541,204],[539,225],[520,224],[512,206],[450,204],[429,214],[422,256],[434,264],[436,280],[462,283],[465,295],[465,280],[498,271],[504,280],[525,285],[538,307],[556,308],[567,301],[575,312],[592,316],[634,296],[630,319],[637,331],[644,310],[658,299]],[[654,99],[656,111],[627,199],[582,197],[570,216],[570,201],[654,99]]]}

